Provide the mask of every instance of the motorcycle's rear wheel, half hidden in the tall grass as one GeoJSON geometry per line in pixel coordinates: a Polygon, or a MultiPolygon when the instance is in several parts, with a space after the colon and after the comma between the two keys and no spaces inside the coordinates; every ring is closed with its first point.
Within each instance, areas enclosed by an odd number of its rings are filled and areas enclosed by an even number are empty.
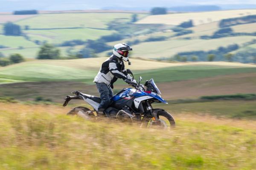
{"type": "Polygon", "coordinates": [[[67,115],[77,115],[79,117],[82,117],[84,119],[93,119],[95,118],[94,114],[92,111],[90,111],[90,109],[85,108],[85,107],[76,107],[73,108],[72,110],[70,110],[67,115]]]}

